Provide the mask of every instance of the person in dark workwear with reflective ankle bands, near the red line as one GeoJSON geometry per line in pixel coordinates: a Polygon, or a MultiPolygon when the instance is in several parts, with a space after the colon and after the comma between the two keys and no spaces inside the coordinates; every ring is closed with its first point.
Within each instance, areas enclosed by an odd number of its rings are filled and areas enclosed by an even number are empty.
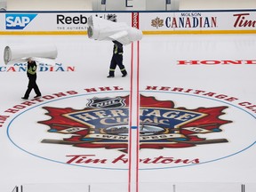
{"type": "Polygon", "coordinates": [[[116,65],[120,68],[120,71],[123,74],[122,77],[127,76],[127,71],[123,65],[123,44],[117,41],[113,41],[113,43],[113,56],[110,62],[108,78],[115,77],[116,65]]]}

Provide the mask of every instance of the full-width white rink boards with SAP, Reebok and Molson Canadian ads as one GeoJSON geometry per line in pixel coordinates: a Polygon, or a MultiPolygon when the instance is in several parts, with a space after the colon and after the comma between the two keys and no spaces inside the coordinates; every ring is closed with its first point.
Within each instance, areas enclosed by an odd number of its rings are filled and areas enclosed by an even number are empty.
{"type": "MultiPolygon", "coordinates": [[[[137,12],[144,34],[256,33],[256,11],[137,12]]],[[[4,12],[1,34],[86,34],[91,15],[132,25],[134,12],[4,12]]]]}

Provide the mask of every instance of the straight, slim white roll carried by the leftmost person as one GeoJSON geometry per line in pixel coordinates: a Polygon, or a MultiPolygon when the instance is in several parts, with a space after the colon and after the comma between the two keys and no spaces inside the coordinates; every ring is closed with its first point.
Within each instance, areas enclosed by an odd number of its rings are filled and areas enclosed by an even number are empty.
{"type": "Polygon", "coordinates": [[[56,59],[58,51],[55,45],[12,45],[4,48],[4,63],[29,57],[56,59]]]}

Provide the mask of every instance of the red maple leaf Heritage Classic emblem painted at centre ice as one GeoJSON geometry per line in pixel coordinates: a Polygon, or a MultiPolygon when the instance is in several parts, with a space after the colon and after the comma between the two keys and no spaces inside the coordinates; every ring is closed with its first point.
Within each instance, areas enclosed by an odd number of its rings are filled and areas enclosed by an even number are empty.
{"type": "MultiPolygon", "coordinates": [[[[172,100],[156,100],[140,95],[140,149],[188,148],[197,145],[228,142],[209,140],[207,133],[222,132],[220,119],[225,106],[214,108],[175,108],[172,100]]],[[[44,107],[51,116],[41,121],[48,132],[70,135],[63,140],[42,140],[43,143],[68,144],[79,148],[116,148],[127,152],[129,139],[129,96],[92,98],[86,108],[44,107]]]]}

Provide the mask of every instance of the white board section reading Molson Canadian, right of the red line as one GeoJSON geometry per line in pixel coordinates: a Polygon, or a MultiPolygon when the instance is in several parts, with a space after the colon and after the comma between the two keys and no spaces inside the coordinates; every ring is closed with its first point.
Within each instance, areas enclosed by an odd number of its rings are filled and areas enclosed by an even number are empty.
{"type": "MultiPolygon", "coordinates": [[[[141,28],[150,31],[255,30],[255,12],[143,12],[141,28]],[[147,20],[147,22],[146,22],[147,20]]],[[[149,32],[150,32],[149,31],[149,32]]],[[[251,31],[251,32],[252,32],[251,31]]]]}

